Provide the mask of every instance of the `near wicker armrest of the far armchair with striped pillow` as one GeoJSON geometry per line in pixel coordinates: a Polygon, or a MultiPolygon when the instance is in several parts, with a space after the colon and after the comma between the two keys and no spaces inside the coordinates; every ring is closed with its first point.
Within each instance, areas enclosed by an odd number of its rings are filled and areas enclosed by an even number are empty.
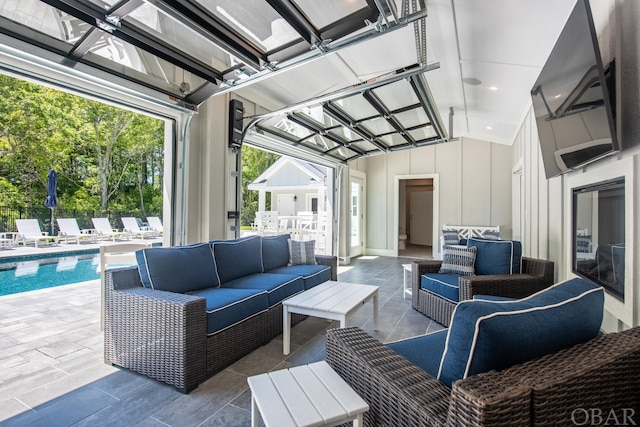
{"type": "Polygon", "coordinates": [[[507,298],[524,298],[551,286],[542,276],[530,274],[500,274],[460,276],[460,301],[473,299],[474,295],[495,295],[507,298]]]}

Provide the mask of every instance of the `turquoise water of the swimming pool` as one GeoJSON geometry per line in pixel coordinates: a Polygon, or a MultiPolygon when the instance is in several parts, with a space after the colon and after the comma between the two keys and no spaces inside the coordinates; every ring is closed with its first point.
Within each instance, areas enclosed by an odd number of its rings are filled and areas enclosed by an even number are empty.
{"type": "Polygon", "coordinates": [[[0,296],[100,279],[99,254],[0,262],[0,296]]]}

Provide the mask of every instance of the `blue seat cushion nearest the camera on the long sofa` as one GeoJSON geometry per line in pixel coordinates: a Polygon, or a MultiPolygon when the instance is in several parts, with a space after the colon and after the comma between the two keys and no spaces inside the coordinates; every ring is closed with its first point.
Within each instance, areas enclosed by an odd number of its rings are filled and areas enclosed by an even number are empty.
{"type": "Polygon", "coordinates": [[[207,300],[207,334],[211,335],[269,309],[261,289],[209,288],[189,292],[207,300]]]}

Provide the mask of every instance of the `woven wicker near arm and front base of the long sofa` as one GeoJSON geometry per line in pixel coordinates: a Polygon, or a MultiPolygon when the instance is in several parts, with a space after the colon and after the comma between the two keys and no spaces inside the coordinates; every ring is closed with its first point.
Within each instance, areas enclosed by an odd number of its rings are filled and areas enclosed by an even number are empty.
{"type": "Polygon", "coordinates": [[[105,362],[183,393],[282,334],[279,303],[207,336],[204,298],[144,288],[137,267],[107,271],[105,291],[105,362]]]}

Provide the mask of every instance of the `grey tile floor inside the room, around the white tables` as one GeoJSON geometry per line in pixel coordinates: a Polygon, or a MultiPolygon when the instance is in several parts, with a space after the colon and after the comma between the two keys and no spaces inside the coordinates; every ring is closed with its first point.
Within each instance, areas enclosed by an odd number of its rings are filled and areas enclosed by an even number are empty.
{"type": "MultiPolygon", "coordinates": [[[[379,330],[373,330],[371,304],[350,317],[349,326],[359,326],[383,342],[442,329],[411,309],[410,299],[403,298],[402,264],[407,262],[406,258],[363,256],[340,267],[341,281],[380,286],[379,330]]],[[[280,336],[188,395],[130,371],[114,369],[100,379],[89,380],[6,418],[0,426],[249,426],[247,377],[323,360],[324,333],[337,326],[337,322],[309,318],[292,329],[290,355],[283,356],[280,336]]]]}

